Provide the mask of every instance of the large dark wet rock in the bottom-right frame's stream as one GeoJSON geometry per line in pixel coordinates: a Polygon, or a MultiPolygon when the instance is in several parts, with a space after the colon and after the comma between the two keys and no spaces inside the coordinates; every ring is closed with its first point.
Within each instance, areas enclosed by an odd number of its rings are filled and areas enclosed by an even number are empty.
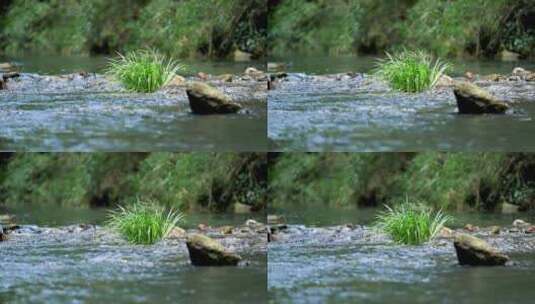
{"type": "Polygon", "coordinates": [[[508,256],[499,253],[484,240],[471,235],[458,234],[453,245],[461,265],[498,266],[509,260],[508,256]]]}

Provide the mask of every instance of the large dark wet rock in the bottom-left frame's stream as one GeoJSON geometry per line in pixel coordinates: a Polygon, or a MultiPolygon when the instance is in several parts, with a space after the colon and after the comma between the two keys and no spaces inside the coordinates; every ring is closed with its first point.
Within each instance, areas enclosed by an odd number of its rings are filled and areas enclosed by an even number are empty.
{"type": "Polygon", "coordinates": [[[241,257],[231,253],[216,240],[192,234],[186,241],[191,263],[195,266],[235,266],[241,257]]]}

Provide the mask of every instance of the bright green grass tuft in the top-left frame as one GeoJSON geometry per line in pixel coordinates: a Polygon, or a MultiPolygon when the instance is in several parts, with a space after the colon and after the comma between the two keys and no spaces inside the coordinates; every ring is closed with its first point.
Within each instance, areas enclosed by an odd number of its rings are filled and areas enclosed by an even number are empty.
{"type": "Polygon", "coordinates": [[[108,73],[131,91],[152,93],[167,84],[183,67],[154,50],[119,54],[111,59],[108,73]]]}

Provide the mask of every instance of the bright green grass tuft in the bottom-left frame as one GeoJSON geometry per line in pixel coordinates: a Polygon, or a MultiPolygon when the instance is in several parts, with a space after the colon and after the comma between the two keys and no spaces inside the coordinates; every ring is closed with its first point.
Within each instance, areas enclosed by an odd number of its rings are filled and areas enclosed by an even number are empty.
{"type": "Polygon", "coordinates": [[[111,211],[108,225],[130,243],[150,245],[167,236],[183,217],[182,213],[166,212],[155,203],[137,202],[111,211]]]}

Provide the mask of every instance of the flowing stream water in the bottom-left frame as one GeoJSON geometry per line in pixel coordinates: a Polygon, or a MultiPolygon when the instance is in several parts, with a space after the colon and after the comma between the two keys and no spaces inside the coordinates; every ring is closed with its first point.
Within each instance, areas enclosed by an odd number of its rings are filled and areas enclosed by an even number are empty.
{"type": "MultiPolygon", "coordinates": [[[[179,240],[134,246],[101,226],[64,226],[102,223],[106,210],[36,207],[2,210],[39,226],[24,226],[0,243],[0,303],[266,302],[265,252],[235,248],[248,265],[193,267],[179,240]]],[[[243,224],[245,216],[188,219],[186,227],[217,226],[243,224]]]]}

